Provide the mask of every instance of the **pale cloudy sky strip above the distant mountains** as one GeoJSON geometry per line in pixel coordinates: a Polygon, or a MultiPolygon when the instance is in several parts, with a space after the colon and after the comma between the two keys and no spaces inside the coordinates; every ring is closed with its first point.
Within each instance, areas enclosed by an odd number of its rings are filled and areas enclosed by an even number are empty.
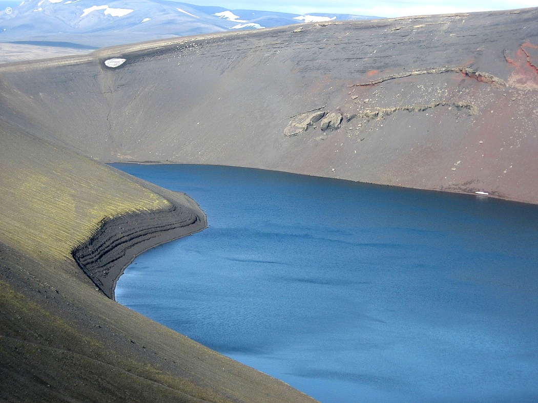
{"type": "Polygon", "coordinates": [[[300,15],[309,12],[335,12],[377,17],[511,10],[538,6],[538,0],[191,0],[190,2],[183,0],[183,2],[218,5],[236,10],[270,10],[300,15]]]}

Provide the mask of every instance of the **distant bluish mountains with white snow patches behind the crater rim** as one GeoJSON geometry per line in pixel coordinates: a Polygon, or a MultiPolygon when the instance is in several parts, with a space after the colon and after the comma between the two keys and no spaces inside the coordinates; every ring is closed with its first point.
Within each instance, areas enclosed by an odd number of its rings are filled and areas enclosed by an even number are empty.
{"type": "Polygon", "coordinates": [[[24,0],[0,11],[0,42],[103,47],[175,36],[301,22],[373,19],[349,14],[297,15],[228,10],[166,0],[24,0]]]}

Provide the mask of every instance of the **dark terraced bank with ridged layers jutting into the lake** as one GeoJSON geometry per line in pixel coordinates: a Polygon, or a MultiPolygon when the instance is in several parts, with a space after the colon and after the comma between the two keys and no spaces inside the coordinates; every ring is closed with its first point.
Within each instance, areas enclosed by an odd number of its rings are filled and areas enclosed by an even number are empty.
{"type": "Polygon", "coordinates": [[[194,200],[184,193],[162,193],[158,192],[159,196],[171,203],[169,209],[103,220],[90,239],[72,251],[79,268],[112,300],[117,280],[134,258],[162,243],[207,228],[206,215],[194,200]]]}

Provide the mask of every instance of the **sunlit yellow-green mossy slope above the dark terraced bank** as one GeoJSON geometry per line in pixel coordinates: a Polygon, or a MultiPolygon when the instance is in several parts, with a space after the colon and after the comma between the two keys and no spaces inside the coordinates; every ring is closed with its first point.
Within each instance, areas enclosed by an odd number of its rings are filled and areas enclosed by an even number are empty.
{"type": "MultiPolygon", "coordinates": [[[[6,134],[0,144],[6,150],[21,140],[6,134]]],[[[170,205],[109,167],[23,141],[26,148],[11,147],[0,159],[0,240],[24,253],[70,258],[103,219],[170,205]]]]}

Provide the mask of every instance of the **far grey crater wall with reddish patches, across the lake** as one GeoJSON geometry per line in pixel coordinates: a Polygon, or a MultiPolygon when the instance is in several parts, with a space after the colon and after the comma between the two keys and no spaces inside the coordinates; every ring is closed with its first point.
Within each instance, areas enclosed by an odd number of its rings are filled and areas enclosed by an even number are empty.
{"type": "Polygon", "coordinates": [[[306,24],[13,64],[0,116],[101,161],[538,203],[537,21],[523,9],[306,24]]]}

